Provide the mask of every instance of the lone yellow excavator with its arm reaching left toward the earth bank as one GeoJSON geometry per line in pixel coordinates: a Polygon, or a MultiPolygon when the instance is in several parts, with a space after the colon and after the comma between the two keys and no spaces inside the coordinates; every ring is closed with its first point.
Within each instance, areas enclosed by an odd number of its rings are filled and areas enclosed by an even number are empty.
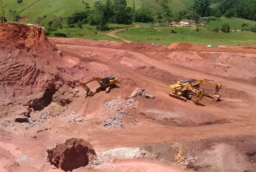
{"type": "Polygon", "coordinates": [[[106,93],[109,93],[110,90],[115,86],[115,83],[118,83],[118,78],[108,76],[106,78],[100,78],[100,77],[93,77],[91,79],[88,79],[85,82],[80,82],[80,85],[87,91],[86,95],[93,96],[94,93],[90,90],[90,88],[86,85],[90,82],[98,81],[99,87],[96,89],[96,93],[98,93],[101,90],[106,90],[106,93]]]}

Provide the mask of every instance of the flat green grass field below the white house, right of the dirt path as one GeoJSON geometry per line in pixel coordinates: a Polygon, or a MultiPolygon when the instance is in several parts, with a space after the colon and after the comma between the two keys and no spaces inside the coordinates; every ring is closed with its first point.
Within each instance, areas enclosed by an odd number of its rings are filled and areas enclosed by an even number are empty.
{"type": "Polygon", "coordinates": [[[199,32],[197,27],[145,27],[130,28],[119,31],[115,35],[130,40],[131,42],[147,42],[169,46],[172,43],[188,42],[192,44],[205,44],[217,47],[219,45],[233,46],[256,46],[256,34],[252,32],[231,32],[215,33],[205,31],[203,28],[199,32]],[[176,34],[171,33],[175,30],[176,34]]]}

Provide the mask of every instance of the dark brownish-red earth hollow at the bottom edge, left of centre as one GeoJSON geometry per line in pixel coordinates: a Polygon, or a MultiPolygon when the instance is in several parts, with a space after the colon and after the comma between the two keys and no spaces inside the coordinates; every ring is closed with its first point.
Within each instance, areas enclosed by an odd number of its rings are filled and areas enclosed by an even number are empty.
{"type": "Polygon", "coordinates": [[[85,167],[96,159],[96,153],[90,143],[78,138],[69,138],[65,143],[48,149],[48,161],[64,171],[85,167]]]}

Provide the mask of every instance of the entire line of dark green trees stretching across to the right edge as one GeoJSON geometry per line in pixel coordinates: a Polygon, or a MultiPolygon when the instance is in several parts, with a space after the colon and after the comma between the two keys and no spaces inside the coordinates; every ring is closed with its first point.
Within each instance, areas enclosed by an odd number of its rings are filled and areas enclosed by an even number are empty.
{"type": "MultiPolygon", "coordinates": [[[[98,30],[109,30],[108,23],[129,25],[133,22],[143,23],[169,23],[180,21],[184,18],[198,21],[200,17],[240,17],[256,21],[256,0],[221,0],[219,4],[211,8],[214,0],[194,0],[193,5],[180,12],[173,13],[170,9],[171,0],[151,0],[145,2],[140,8],[127,6],[126,0],[95,0],[90,7],[86,0],[82,0],[84,10],[73,13],[66,18],[50,21],[46,26],[48,31],[61,29],[63,20],[69,27],[82,28],[89,23],[97,26],[98,30]],[[153,5],[153,6],[152,6],[153,5]]],[[[218,0],[216,0],[218,1],[218,0]]]]}

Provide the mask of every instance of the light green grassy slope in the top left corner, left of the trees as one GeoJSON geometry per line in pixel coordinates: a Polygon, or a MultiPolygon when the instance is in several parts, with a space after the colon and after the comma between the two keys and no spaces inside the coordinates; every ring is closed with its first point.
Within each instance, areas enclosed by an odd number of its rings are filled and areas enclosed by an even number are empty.
{"type": "Polygon", "coordinates": [[[24,0],[18,4],[17,0],[8,0],[3,2],[5,18],[8,22],[14,22],[13,16],[9,10],[16,10],[21,17],[25,17],[27,21],[20,23],[35,23],[38,17],[44,17],[44,23],[55,18],[69,16],[76,11],[84,9],[82,1],[73,0],[24,0]],[[31,6],[30,6],[31,5],[31,6]]]}

